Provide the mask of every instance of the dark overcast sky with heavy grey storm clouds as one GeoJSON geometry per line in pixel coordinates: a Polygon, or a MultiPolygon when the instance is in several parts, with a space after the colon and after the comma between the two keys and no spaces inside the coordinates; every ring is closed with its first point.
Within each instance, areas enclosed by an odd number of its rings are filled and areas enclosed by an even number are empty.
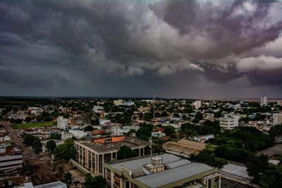
{"type": "Polygon", "coordinates": [[[0,95],[282,97],[282,1],[0,0],[0,95]]]}

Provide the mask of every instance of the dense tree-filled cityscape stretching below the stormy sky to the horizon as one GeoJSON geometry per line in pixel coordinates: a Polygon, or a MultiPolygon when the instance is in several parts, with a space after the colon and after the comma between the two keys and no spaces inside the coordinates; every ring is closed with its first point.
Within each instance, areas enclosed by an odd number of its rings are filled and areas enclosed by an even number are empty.
{"type": "Polygon", "coordinates": [[[281,104],[2,97],[1,184],[280,187],[281,104]]]}

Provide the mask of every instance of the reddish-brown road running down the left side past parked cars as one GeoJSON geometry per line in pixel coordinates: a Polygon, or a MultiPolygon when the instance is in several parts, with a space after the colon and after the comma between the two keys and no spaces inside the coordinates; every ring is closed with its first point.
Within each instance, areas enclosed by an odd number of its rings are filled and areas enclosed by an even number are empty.
{"type": "Polygon", "coordinates": [[[17,147],[25,153],[23,155],[23,161],[25,163],[30,161],[30,165],[35,169],[34,178],[32,178],[35,184],[60,181],[59,178],[54,176],[54,171],[51,170],[49,163],[51,160],[50,156],[47,154],[35,154],[31,148],[23,144],[23,138],[18,137],[18,134],[20,134],[19,129],[13,129],[9,124],[2,123],[6,131],[11,135],[12,141],[16,142],[17,147]],[[40,158],[45,158],[45,160],[40,160],[40,158]],[[38,177],[42,177],[42,180],[39,180],[38,177]]]}

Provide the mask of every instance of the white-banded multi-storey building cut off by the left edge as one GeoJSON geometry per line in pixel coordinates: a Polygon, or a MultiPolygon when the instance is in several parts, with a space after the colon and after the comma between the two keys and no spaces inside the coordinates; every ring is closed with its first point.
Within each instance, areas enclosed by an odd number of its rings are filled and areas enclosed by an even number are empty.
{"type": "Polygon", "coordinates": [[[23,168],[23,151],[13,146],[0,148],[0,175],[20,172],[23,168]]]}

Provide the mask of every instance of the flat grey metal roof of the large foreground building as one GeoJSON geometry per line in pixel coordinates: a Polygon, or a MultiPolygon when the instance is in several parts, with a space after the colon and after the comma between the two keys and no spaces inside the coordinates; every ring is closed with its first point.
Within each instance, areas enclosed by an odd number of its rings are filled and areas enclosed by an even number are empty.
{"type": "Polygon", "coordinates": [[[176,155],[165,153],[163,155],[157,155],[162,158],[163,164],[166,170],[150,174],[147,170],[144,173],[140,173],[143,170],[143,165],[149,164],[151,158],[140,158],[135,160],[128,160],[121,163],[112,163],[111,167],[121,171],[121,167],[132,171],[134,175],[138,172],[141,177],[136,177],[135,180],[146,184],[148,187],[161,187],[171,182],[183,180],[193,175],[212,170],[214,168],[202,163],[191,163],[189,160],[181,159],[176,155]]]}

